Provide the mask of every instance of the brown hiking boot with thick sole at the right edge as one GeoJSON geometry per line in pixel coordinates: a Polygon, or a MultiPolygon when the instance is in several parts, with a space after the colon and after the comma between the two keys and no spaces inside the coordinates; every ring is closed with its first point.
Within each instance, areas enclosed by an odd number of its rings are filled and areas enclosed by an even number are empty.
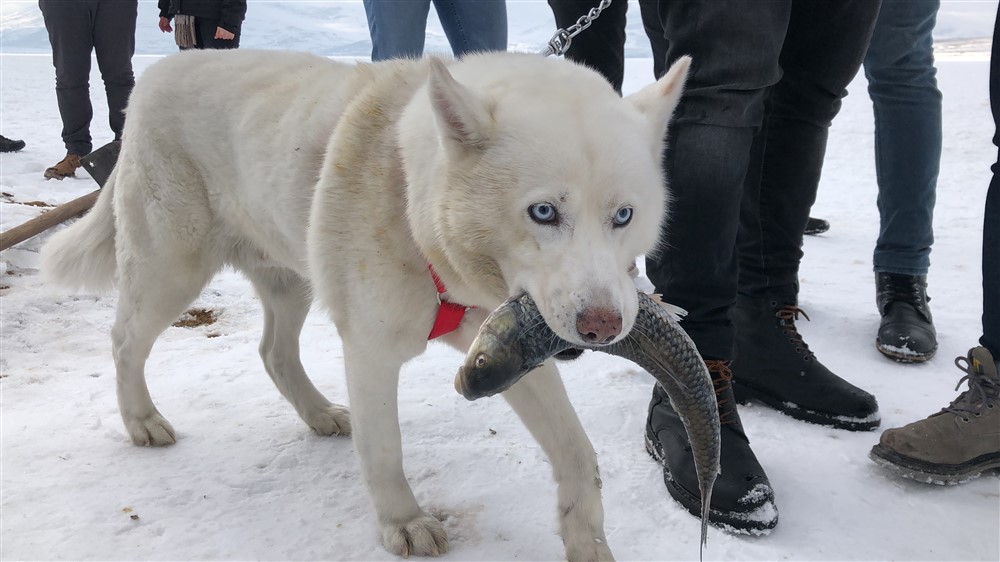
{"type": "MultiPolygon", "coordinates": [[[[887,429],[869,457],[905,478],[960,484],[1000,468],[1000,374],[985,347],[955,364],[969,390],[940,412],[905,427],[887,429]]],[[[958,387],[955,387],[958,390],[958,387]]]]}

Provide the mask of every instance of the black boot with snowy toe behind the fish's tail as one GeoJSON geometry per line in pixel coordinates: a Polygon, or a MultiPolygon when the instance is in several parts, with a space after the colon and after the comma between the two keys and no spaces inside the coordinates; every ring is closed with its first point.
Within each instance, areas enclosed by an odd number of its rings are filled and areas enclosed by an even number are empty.
{"type": "MultiPolygon", "coordinates": [[[[705,364],[712,373],[722,424],[722,473],[712,491],[708,521],[733,533],[767,534],[778,524],[778,509],[774,505],[771,484],[750,450],[750,441],[736,413],[730,384],[732,374],[724,361],[706,361],[705,364]]],[[[687,431],[659,385],[653,388],[653,400],[649,404],[646,450],[663,464],[663,481],[670,496],[699,517],[701,493],[687,431]]]]}

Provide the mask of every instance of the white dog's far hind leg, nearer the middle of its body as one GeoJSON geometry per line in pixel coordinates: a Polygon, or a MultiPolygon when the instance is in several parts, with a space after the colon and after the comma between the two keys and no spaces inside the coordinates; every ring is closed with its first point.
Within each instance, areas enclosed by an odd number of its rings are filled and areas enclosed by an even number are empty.
{"type": "Polygon", "coordinates": [[[287,269],[245,269],[264,306],[260,357],[264,368],[299,417],[320,435],[350,435],[347,408],[331,404],[306,375],[299,359],[299,334],[312,296],[305,279],[287,269]]]}

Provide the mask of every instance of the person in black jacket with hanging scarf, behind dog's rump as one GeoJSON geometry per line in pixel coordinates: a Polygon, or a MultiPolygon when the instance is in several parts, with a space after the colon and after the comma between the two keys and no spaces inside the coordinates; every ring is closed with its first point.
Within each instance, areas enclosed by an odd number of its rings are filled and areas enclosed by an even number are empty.
{"type": "Polygon", "coordinates": [[[177,27],[175,40],[186,49],[238,49],[247,0],[159,0],[160,31],[177,27]]]}

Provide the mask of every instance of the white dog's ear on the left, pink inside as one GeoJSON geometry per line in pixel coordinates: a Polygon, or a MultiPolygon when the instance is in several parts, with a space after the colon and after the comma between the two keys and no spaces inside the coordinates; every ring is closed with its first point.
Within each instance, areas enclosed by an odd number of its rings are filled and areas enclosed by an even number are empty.
{"type": "Polygon", "coordinates": [[[430,59],[428,89],[442,134],[462,146],[481,147],[490,138],[489,105],[456,81],[440,59],[430,59]]]}

